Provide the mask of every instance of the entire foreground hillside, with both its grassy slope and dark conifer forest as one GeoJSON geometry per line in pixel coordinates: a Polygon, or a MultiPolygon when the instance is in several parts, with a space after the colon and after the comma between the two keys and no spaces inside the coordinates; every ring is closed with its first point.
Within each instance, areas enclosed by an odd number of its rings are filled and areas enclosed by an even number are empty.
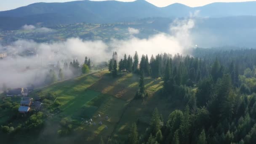
{"type": "MultiPolygon", "coordinates": [[[[51,82],[29,94],[43,101],[40,111],[20,114],[20,98],[2,96],[5,142],[256,143],[255,49],[109,57],[109,72],[51,82]]],[[[83,67],[74,60],[69,69],[87,73],[87,65],[86,58],[83,67]]]]}

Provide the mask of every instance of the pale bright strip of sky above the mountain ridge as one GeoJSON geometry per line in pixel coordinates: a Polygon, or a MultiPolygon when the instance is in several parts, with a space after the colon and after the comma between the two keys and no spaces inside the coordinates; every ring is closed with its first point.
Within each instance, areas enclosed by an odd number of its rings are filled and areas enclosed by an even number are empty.
{"type": "MultiPolygon", "coordinates": [[[[21,6],[29,5],[31,3],[38,3],[38,2],[51,3],[51,2],[68,2],[68,1],[75,1],[75,0],[0,0],[0,11],[6,11],[6,10],[18,8],[21,6]]],[[[95,1],[102,1],[102,0],[95,0],[95,1]]],[[[118,0],[118,1],[131,2],[134,0],[118,0]]],[[[243,1],[255,1],[255,0],[147,0],[147,1],[159,7],[167,6],[172,3],[182,3],[184,5],[195,7],[195,6],[202,6],[202,5],[206,5],[214,2],[243,2],[243,1]]]]}

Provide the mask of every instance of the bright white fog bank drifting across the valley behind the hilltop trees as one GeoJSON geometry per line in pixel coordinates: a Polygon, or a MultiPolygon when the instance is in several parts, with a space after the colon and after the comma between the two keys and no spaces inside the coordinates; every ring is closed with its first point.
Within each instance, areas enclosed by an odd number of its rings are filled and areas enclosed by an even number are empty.
{"type": "MultiPolygon", "coordinates": [[[[158,53],[183,53],[185,48],[192,45],[190,29],[195,26],[192,19],[176,20],[170,25],[170,34],[152,35],[147,39],[129,37],[128,40],[112,39],[108,43],[101,40],[84,41],[79,38],[69,38],[65,41],[53,43],[36,43],[31,40],[18,40],[8,46],[8,50],[22,53],[23,51],[35,51],[33,56],[8,56],[0,61],[0,80],[8,87],[24,87],[28,83],[35,85],[45,80],[45,75],[49,70],[48,64],[57,61],[70,62],[77,59],[84,61],[85,56],[91,58],[96,63],[107,61],[112,57],[112,52],[117,51],[119,58],[127,55],[133,56],[135,51],[139,56],[147,54],[156,55],[158,53]],[[29,69],[27,69],[29,67],[29,69]]],[[[27,27],[27,26],[26,26],[27,27]]],[[[31,26],[29,26],[31,27],[31,26]]],[[[32,28],[32,27],[31,27],[32,28]]],[[[43,29],[43,28],[35,28],[43,29]]],[[[44,28],[43,31],[48,31],[44,28]]],[[[129,31],[138,33],[138,29],[129,28],[129,31]]]]}

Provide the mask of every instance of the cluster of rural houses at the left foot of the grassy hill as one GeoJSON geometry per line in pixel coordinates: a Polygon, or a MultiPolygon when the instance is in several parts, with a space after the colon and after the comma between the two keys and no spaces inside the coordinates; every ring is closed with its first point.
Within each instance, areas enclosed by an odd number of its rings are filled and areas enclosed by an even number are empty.
{"type": "Polygon", "coordinates": [[[14,88],[6,92],[6,96],[22,96],[21,105],[19,107],[19,112],[27,113],[31,108],[40,109],[42,103],[40,101],[32,101],[32,98],[29,98],[27,95],[33,91],[33,87],[28,88],[14,88]]]}

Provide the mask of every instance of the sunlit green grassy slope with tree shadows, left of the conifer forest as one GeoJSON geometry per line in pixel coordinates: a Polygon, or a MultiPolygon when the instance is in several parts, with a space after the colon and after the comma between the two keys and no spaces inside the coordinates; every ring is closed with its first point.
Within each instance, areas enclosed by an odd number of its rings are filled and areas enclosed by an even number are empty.
{"type": "MultiPolygon", "coordinates": [[[[139,76],[123,73],[117,78],[107,71],[83,75],[75,79],[54,83],[36,89],[31,96],[56,95],[60,105],[52,104],[48,110],[45,126],[40,136],[28,143],[54,142],[61,144],[99,143],[111,139],[125,140],[132,123],[139,123],[139,131],[145,131],[152,111],[157,107],[164,115],[172,110],[165,99],[157,94],[163,87],[162,80],[145,78],[145,87],[149,96],[145,99],[133,99],[138,90],[139,76]],[[101,117],[97,117],[101,115],[101,117]],[[108,116],[109,119],[105,117],[108,116]],[[96,125],[87,125],[85,120],[93,119],[96,125]],[[74,131],[60,137],[61,120],[67,120],[74,131]],[[102,122],[102,125],[99,125],[102,122]],[[105,129],[107,126],[107,129],[105,129]],[[60,139],[61,138],[61,139],[60,139]]],[[[33,136],[33,135],[32,135],[33,136]]],[[[19,136],[17,137],[17,139],[19,136]]]]}

